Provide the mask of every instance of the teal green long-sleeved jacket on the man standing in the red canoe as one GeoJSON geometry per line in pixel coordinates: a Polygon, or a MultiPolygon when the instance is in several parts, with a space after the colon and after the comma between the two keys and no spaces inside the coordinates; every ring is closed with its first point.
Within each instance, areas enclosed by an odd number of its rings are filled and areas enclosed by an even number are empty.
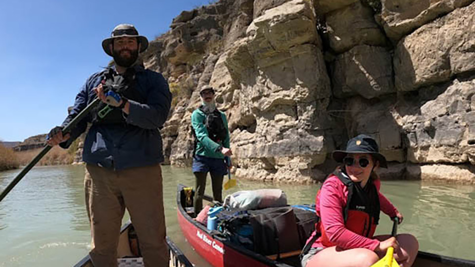
{"type": "Polygon", "coordinates": [[[218,150],[221,146],[229,149],[229,129],[228,129],[228,120],[226,119],[226,114],[220,111],[221,118],[223,119],[224,127],[226,128],[226,138],[223,141],[223,144],[218,144],[211,140],[208,136],[208,130],[204,124],[206,119],[206,114],[199,109],[196,109],[191,114],[191,126],[193,127],[194,133],[196,134],[197,144],[195,154],[200,156],[212,157],[212,158],[224,158],[224,155],[218,150]],[[216,151],[218,150],[218,151],[216,151]]]}

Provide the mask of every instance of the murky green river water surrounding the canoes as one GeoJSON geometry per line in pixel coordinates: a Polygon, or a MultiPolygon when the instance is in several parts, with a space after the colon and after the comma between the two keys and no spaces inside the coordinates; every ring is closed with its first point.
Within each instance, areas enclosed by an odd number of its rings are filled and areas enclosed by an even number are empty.
{"type": "MultiPolygon", "coordinates": [[[[0,190],[19,171],[0,172],[0,190]]],[[[35,167],[10,191],[0,202],[0,267],[72,266],[88,253],[91,238],[83,178],[81,165],[35,167]]],[[[181,235],[177,223],[177,185],[194,186],[191,170],[163,166],[163,183],[167,234],[192,263],[208,267],[181,235]]],[[[296,204],[313,203],[319,185],[238,181],[223,196],[260,188],[280,188],[288,202],[296,204]]],[[[475,186],[383,181],[381,191],[404,215],[398,232],[414,234],[422,251],[475,260],[475,186]]],[[[206,192],[211,194],[209,184],[206,192]]],[[[126,214],[124,222],[127,220],[126,214]]],[[[382,216],[377,234],[390,229],[390,220],[382,216]]]]}

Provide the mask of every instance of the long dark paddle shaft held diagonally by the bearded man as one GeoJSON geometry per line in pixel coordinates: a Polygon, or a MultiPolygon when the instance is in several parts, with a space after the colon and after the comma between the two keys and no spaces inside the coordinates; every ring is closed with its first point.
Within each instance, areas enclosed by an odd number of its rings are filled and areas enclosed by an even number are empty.
{"type": "MultiPolygon", "coordinates": [[[[82,110],[76,117],[74,117],[69,123],[68,125],[66,125],[66,127],[63,128],[62,132],[63,134],[65,133],[68,133],[72,128],[74,128],[76,126],[76,124],[78,124],[79,121],[81,121],[87,114],[89,114],[91,112],[91,110],[97,105],[100,103],[100,99],[99,98],[96,98],[95,100],[93,100],[93,102],[91,102],[91,104],[89,104],[84,110],[82,110]]],[[[20,182],[20,180],[36,165],[36,163],[38,163],[38,161],[40,161],[43,156],[46,155],[46,153],[48,153],[48,151],[50,151],[52,149],[51,146],[49,145],[46,145],[46,147],[37,155],[35,156],[35,158],[33,158],[32,161],[30,161],[30,163],[28,163],[28,165],[26,165],[25,168],[23,168],[23,170],[21,170],[21,172],[15,177],[15,179],[13,179],[13,181],[10,182],[10,184],[8,184],[8,186],[5,188],[5,190],[3,190],[0,194],[0,201],[16,186],[16,184],[18,184],[18,182],[20,182]]]]}

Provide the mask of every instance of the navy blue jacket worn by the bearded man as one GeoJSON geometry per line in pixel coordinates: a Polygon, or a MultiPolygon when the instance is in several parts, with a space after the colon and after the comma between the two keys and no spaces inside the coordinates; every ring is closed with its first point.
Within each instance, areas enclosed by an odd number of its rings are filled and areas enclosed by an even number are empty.
{"type": "MultiPolygon", "coordinates": [[[[137,90],[146,103],[129,100],[130,112],[124,113],[126,124],[92,124],[86,136],[83,160],[115,170],[142,167],[163,162],[162,138],[158,127],[165,123],[170,111],[172,94],[165,78],[156,72],[136,68],[137,90]]],[[[66,126],[91,103],[106,70],[90,76],[76,96],[74,107],[62,126],[66,126]]],[[[59,144],[68,148],[87,128],[92,115],[87,116],[71,130],[71,137],[59,144]]]]}

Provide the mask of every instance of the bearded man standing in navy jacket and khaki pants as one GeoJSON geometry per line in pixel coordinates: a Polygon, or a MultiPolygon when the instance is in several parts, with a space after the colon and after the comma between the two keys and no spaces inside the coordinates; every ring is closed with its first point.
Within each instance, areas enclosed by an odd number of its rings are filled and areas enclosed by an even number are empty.
{"type": "Polygon", "coordinates": [[[163,209],[162,139],[158,127],[167,119],[172,95],[165,78],[137,63],[148,46],[136,28],[121,24],[102,41],[114,67],[90,76],[66,125],[96,97],[102,101],[70,133],[62,126],[48,134],[48,144],[68,148],[92,126],[84,143],[86,208],[91,224],[94,266],[117,266],[117,244],[125,209],[140,240],[145,266],[168,266],[163,209]],[[112,97],[112,99],[111,99],[112,97]]]}

